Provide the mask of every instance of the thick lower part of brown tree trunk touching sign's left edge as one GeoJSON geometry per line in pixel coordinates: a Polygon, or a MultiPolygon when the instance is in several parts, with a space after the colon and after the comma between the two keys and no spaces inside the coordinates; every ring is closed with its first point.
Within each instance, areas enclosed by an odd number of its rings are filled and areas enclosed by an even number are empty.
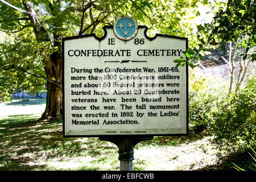
{"type": "Polygon", "coordinates": [[[40,120],[52,120],[62,118],[62,56],[58,52],[53,52],[44,61],[47,76],[47,98],[46,110],[40,120]]]}

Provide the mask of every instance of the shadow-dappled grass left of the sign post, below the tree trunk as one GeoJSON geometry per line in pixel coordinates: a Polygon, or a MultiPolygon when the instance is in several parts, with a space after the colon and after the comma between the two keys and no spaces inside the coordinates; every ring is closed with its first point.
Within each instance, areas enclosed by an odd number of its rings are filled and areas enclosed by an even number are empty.
{"type": "Polygon", "coordinates": [[[63,138],[61,121],[36,122],[24,115],[22,124],[10,122],[11,127],[2,127],[8,125],[6,119],[0,124],[1,170],[108,170],[112,166],[104,161],[115,164],[112,159],[117,159],[117,148],[110,142],[63,138]]]}

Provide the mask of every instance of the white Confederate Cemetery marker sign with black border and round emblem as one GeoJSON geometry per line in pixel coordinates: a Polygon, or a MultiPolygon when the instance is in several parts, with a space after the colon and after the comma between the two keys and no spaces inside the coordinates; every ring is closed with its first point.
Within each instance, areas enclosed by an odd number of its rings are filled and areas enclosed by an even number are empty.
{"type": "Polygon", "coordinates": [[[148,38],[128,16],[104,31],[63,39],[64,136],[187,134],[187,38],[148,38]]]}

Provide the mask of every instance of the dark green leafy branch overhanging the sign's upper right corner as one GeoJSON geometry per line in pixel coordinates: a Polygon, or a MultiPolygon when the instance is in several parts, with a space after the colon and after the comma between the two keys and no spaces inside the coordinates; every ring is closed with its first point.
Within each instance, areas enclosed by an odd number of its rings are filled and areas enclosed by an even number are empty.
{"type": "Polygon", "coordinates": [[[224,9],[220,9],[211,23],[197,26],[198,46],[193,46],[193,52],[185,51],[189,56],[186,59],[177,59],[176,63],[195,61],[201,59],[201,55],[210,47],[221,45],[222,51],[226,50],[225,43],[236,42],[243,39],[241,46],[246,48],[242,53],[243,60],[250,57],[256,59],[256,28],[255,28],[256,4],[253,0],[228,1],[224,9]],[[249,51],[251,49],[251,51],[249,51]]]}

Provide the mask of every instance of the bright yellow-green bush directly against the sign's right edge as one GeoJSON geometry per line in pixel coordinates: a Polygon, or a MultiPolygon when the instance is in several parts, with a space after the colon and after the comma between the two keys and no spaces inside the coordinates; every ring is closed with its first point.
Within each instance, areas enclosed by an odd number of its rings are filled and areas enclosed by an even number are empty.
{"type": "Polygon", "coordinates": [[[201,134],[209,131],[213,113],[225,95],[221,80],[204,76],[198,69],[189,69],[189,132],[201,134]]]}

